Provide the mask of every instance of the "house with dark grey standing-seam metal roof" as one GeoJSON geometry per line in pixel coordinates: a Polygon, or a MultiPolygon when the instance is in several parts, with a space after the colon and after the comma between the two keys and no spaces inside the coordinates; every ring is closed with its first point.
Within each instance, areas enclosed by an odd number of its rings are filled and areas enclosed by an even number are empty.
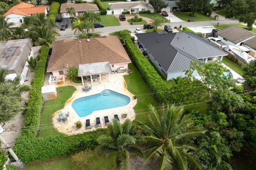
{"type": "MultiPolygon", "coordinates": [[[[138,43],[166,80],[185,77],[191,61],[215,61],[227,53],[193,32],[140,33],[138,43]]],[[[196,75],[196,72],[194,73],[196,75]]]]}

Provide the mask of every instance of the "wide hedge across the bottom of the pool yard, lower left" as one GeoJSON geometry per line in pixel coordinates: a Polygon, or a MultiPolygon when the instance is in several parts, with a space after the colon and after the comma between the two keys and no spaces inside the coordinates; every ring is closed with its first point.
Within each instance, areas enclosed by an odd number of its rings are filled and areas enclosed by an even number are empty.
{"type": "Polygon", "coordinates": [[[35,160],[66,155],[78,149],[93,149],[98,145],[98,137],[106,133],[107,129],[98,129],[69,136],[62,134],[46,138],[21,136],[15,142],[13,149],[23,163],[29,163],[35,160]]]}

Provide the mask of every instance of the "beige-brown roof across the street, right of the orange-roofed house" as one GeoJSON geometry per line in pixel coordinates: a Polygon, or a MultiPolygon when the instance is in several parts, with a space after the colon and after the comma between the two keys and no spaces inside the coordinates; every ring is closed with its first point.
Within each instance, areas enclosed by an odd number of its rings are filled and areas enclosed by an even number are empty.
{"type": "Polygon", "coordinates": [[[68,7],[74,7],[75,11],[95,11],[95,10],[99,10],[99,8],[98,8],[98,6],[96,4],[64,3],[64,4],[61,4],[60,13],[67,12],[66,8],[68,8],[68,7]]]}

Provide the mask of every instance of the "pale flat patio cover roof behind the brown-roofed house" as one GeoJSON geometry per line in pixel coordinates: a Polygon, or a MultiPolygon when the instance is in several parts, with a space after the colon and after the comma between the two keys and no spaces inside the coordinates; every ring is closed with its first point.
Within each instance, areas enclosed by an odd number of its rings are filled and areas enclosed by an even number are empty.
{"type": "Polygon", "coordinates": [[[78,66],[78,76],[95,75],[110,72],[111,68],[109,62],[79,64],[78,66]]]}

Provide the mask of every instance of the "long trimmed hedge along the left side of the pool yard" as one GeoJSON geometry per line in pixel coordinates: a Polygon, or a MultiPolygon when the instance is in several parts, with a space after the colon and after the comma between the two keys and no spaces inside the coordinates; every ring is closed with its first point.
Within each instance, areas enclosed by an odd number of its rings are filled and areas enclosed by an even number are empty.
{"type": "Polygon", "coordinates": [[[37,127],[39,125],[39,117],[42,109],[41,87],[44,86],[44,75],[47,57],[49,53],[48,46],[42,46],[38,54],[39,61],[35,71],[34,79],[31,82],[30,98],[25,112],[26,119],[23,126],[22,135],[36,137],[37,127]]]}

